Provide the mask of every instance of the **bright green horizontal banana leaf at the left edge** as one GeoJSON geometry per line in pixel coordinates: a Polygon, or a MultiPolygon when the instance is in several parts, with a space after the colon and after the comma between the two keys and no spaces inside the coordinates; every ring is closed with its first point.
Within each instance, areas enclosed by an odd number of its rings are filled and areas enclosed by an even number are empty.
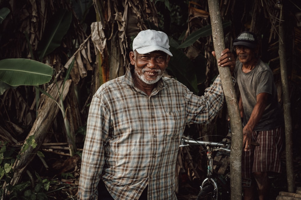
{"type": "Polygon", "coordinates": [[[51,80],[53,69],[47,64],[25,59],[0,60],[0,81],[11,86],[41,85],[51,80]]]}

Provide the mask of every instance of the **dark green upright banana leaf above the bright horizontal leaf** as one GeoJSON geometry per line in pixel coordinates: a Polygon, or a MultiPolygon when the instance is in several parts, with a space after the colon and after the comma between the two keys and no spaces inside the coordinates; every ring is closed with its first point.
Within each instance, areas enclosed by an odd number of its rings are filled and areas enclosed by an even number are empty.
{"type": "Polygon", "coordinates": [[[68,31],[71,21],[72,12],[64,9],[60,9],[51,17],[38,44],[39,61],[42,61],[45,55],[61,46],[61,41],[68,31]]]}

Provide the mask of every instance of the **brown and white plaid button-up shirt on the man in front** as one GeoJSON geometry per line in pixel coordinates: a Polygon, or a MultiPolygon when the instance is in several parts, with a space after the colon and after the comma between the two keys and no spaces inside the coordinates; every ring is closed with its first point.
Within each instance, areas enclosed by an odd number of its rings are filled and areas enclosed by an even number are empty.
{"type": "Polygon", "coordinates": [[[92,98],[82,152],[79,199],[97,199],[104,181],[114,199],[176,199],[175,163],[186,124],[209,123],[223,106],[218,76],[202,97],[163,77],[150,96],[134,86],[132,66],[92,98]]]}

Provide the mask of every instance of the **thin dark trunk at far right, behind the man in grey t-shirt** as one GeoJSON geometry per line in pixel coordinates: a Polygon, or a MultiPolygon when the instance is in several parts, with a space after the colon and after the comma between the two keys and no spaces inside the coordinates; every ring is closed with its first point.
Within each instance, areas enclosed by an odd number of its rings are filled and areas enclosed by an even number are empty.
{"type": "Polygon", "coordinates": [[[278,4],[281,12],[279,23],[279,59],[280,59],[280,71],[281,71],[281,83],[283,94],[283,110],[284,110],[284,124],[285,124],[285,155],[286,155],[286,173],[287,173],[287,190],[288,192],[294,192],[295,179],[293,176],[293,142],[292,142],[292,118],[290,113],[290,98],[289,88],[287,80],[287,58],[284,45],[285,27],[283,20],[283,5],[278,4]],[[282,23],[281,23],[282,22],[282,23]]]}

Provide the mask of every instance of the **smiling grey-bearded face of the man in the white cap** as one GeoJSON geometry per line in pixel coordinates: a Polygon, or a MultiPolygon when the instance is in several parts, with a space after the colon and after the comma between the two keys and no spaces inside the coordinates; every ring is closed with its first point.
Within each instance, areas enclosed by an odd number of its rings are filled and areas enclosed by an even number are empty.
{"type": "Polygon", "coordinates": [[[139,54],[138,52],[131,52],[131,64],[135,66],[135,76],[138,77],[140,85],[154,85],[162,77],[167,64],[169,56],[162,51],[154,51],[147,54],[139,54]]]}

